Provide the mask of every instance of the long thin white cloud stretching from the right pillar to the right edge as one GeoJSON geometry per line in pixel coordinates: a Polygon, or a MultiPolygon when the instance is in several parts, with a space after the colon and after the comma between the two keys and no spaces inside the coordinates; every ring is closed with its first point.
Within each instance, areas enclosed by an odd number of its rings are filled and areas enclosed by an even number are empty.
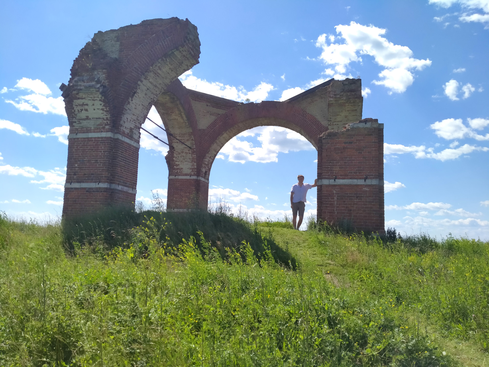
{"type": "Polygon", "coordinates": [[[431,158],[437,161],[450,161],[459,158],[464,154],[469,154],[474,151],[487,152],[489,148],[480,147],[476,145],[464,144],[456,149],[447,148],[441,152],[435,153],[434,148],[426,148],[424,145],[421,146],[404,146],[401,144],[387,144],[384,143],[384,155],[389,154],[403,154],[411,153],[417,159],[431,158]]]}

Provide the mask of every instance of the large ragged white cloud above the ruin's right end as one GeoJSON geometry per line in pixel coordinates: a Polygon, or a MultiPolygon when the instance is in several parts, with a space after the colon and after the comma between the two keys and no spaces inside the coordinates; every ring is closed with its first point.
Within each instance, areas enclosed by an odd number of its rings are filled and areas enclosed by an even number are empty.
{"type": "Polygon", "coordinates": [[[370,55],[378,65],[385,68],[378,74],[381,79],[373,82],[388,88],[389,93],[402,93],[413,84],[414,70],[431,65],[429,59],[413,58],[413,51],[409,47],[394,45],[382,37],[386,32],[383,28],[356,22],[337,25],[335,28],[339,36],[328,37],[322,34],[316,41],[316,46],[323,49],[320,58],[325,64],[334,65],[334,71],[326,69],[325,72],[335,79],[346,77],[346,70],[352,61],[362,62],[361,55],[370,55]],[[335,40],[342,40],[342,43],[334,43],[335,40]]]}

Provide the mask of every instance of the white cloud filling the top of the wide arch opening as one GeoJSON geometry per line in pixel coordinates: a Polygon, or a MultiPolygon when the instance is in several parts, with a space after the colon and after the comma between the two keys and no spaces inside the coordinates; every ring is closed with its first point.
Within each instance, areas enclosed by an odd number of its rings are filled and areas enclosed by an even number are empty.
{"type": "Polygon", "coordinates": [[[216,158],[228,161],[244,163],[253,162],[277,162],[278,153],[297,152],[300,150],[312,150],[312,144],[302,135],[277,126],[260,126],[229,140],[221,149],[216,158]],[[252,142],[245,140],[246,137],[257,135],[261,146],[254,146],[252,142]]]}

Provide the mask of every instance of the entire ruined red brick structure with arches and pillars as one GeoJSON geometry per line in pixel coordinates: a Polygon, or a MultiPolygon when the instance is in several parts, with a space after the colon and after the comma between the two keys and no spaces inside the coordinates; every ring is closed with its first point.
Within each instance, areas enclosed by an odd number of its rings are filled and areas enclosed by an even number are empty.
{"type": "Polygon", "coordinates": [[[178,18],[98,32],[80,50],[60,87],[69,122],[63,217],[134,206],[140,128],[154,105],[170,144],[168,210],[206,210],[222,146],[274,125],[317,149],[318,219],[384,232],[383,124],[362,119],[360,79],[331,79],[284,102],[240,103],[181,84],[199,56],[197,27],[178,18]]]}

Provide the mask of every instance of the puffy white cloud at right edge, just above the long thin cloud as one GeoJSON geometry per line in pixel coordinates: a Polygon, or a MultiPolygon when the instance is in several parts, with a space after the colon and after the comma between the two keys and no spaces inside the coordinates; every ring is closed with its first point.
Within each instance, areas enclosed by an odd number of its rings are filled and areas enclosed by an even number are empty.
{"type": "MultiPolygon", "coordinates": [[[[467,121],[471,127],[475,127],[479,130],[482,130],[489,124],[489,120],[483,118],[468,118],[467,121]]],[[[446,140],[463,138],[474,138],[479,141],[489,140],[489,134],[486,134],[485,136],[477,134],[475,131],[464,125],[461,118],[446,118],[445,120],[437,121],[430,125],[430,128],[435,130],[435,134],[438,137],[446,140]]]]}

